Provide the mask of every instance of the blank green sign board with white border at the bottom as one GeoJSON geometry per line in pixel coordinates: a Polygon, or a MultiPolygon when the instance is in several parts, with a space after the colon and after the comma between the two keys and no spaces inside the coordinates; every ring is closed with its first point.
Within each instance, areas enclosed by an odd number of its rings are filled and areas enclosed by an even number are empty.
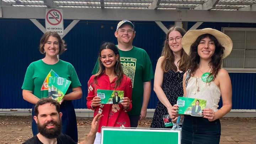
{"type": "Polygon", "coordinates": [[[102,127],[101,144],[180,144],[179,129],[102,127]]]}

